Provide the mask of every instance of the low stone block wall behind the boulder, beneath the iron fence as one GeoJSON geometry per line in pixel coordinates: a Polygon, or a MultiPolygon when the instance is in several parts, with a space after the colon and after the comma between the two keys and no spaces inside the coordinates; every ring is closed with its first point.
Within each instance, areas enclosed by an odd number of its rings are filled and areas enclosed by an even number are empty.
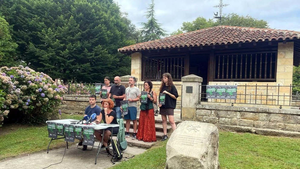
{"type": "Polygon", "coordinates": [[[300,110],[197,105],[192,119],[221,129],[263,135],[300,137],[300,110]]]}

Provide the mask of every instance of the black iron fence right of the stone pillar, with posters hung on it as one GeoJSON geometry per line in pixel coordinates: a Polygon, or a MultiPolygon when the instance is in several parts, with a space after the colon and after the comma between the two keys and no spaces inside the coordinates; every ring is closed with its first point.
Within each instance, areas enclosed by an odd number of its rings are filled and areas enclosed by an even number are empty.
{"type": "Polygon", "coordinates": [[[199,104],[215,102],[228,104],[264,104],[279,106],[300,106],[300,86],[280,85],[237,85],[236,99],[206,98],[206,86],[200,85],[199,104]]]}

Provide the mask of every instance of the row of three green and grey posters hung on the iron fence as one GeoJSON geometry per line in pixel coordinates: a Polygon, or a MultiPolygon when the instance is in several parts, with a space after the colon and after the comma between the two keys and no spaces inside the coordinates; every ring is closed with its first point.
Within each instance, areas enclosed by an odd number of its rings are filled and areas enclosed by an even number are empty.
{"type": "Polygon", "coordinates": [[[236,99],[237,85],[207,85],[206,98],[236,99]]]}

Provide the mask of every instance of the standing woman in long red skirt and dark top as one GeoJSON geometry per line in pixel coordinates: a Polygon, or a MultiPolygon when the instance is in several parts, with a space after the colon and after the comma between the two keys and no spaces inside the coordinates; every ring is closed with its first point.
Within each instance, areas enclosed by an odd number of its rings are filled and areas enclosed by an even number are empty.
{"type": "Polygon", "coordinates": [[[148,99],[147,104],[142,103],[140,106],[141,111],[138,121],[138,133],[136,135],[138,140],[143,140],[144,142],[156,141],[153,103],[156,104],[157,95],[155,91],[152,91],[152,87],[151,81],[144,82],[144,91],[148,92],[148,99]]]}

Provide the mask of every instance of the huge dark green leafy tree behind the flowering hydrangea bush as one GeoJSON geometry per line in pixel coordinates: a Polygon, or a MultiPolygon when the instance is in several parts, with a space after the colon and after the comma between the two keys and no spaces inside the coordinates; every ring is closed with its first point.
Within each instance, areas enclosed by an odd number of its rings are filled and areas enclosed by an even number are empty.
{"type": "Polygon", "coordinates": [[[13,25],[18,59],[31,68],[65,82],[130,74],[130,57],[117,49],[136,42],[136,28],[113,0],[8,0],[0,6],[13,25]]]}

